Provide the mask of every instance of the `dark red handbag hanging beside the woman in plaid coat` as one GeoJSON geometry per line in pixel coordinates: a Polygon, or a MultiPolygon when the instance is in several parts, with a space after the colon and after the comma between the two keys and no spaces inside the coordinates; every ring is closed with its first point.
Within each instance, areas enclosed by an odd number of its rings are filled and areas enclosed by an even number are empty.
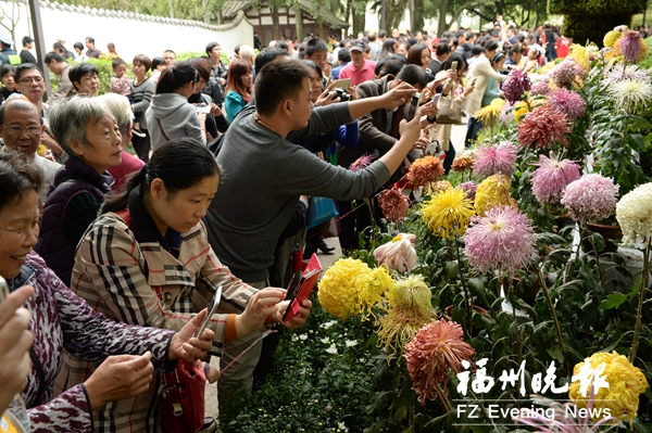
{"type": "Polygon", "coordinates": [[[199,432],[204,423],[206,377],[199,360],[179,359],[163,374],[161,418],[167,433],[199,432]]]}

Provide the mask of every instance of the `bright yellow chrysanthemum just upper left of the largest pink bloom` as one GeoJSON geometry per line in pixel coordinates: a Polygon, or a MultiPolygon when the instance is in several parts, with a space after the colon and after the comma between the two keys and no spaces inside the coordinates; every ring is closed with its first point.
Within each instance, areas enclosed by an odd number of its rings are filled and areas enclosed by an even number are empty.
{"type": "Polygon", "coordinates": [[[473,203],[462,190],[448,189],[432,196],[422,207],[424,221],[438,237],[463,235],[474,215],[473,203]]]}

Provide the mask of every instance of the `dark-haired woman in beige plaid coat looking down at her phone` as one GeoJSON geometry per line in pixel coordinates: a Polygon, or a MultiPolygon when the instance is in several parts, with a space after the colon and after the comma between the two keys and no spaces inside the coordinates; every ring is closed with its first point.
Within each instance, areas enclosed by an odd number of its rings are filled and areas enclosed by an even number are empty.
{"type": "MultiPolygon", "coordinates": [[[[223,288],[210,328],[213,349],[279,322],[285,290],[258,291],[222,266],[208,243],[201,217],[217,190],[220,171],[205,145],[184,138],[158,149],[124,195],[108,201],[78,245],[73,290],[97,311],[118,321],[179,329],[223,288]],[[179,176],[183,174],[183,176],[179,176]]],[[[297,320],[305,321],[310,304],[297,320]]],[[[66,356],[60,377],[70,385],[93,366],[66,356]]],[[[159,380],[136,398],[101,408],[99,432],[162,432],[159,380]]]]}

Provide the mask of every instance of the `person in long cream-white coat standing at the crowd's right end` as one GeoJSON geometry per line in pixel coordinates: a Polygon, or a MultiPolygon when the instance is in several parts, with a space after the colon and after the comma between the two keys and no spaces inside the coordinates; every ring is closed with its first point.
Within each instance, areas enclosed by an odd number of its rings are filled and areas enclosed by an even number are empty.
{"type": "Polygon", "coordinates": [[[466,139],[464,145],[471,148],[471,144],[477,139],[478,131],[482,127],[482,123],[475,118],[475,114],[482,107],[482,97],[489,77],[502,82],[506,75],[502,75],[491,67],[490,59],[493,59],[498,51],[498,43],[492,40],[485,44],[485,52],[473,62],[473,68],[469,72],[469,79],[475,79],[475,91],[466,99],[466,107],[464,112],[468,116],[468,127],[466,129],[466,139]]]}

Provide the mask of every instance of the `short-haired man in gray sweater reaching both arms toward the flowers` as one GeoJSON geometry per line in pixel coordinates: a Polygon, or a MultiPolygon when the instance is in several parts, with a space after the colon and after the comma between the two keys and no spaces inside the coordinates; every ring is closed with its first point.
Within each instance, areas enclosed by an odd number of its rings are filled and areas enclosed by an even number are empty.
{"type": "MultiPolygon", "coordinates": [[[[255,107],[238,114],[217,156],[224,177],[205,217],[209,241],[234,275],[256,288],[268,285],[274,247],[300,195],[369,196],[387,182],[419,137],[415,116],[401,124],[401,138],[393,148],[364,170],[353,173],[319,160],[287,138],[325,132],[378,107],[391,110],[404,104],[415,89],[402,84],[377,98],[312,110],[309,77],[310,69],[299,61],[265,65],[255,80],[255,107]]],[[[251,339],[230,343],[222,367],[247,348],[251,339]]],[[[259,356],[260,342],[222,374],[221,405],[230,384],[246,379],[251,386],[259,356]]]]}

